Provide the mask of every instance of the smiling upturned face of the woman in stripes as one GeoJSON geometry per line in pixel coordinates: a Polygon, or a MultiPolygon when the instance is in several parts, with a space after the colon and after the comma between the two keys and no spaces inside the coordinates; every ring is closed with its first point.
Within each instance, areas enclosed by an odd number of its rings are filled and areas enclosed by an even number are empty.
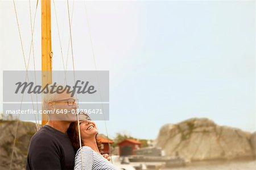
{"type": "Polygon", "coordinates": [[[79,121],[79,124],[82,139],[88,139],[92,138],[92,136],[96,136],[98,130],[93,121],[79,121]]]}

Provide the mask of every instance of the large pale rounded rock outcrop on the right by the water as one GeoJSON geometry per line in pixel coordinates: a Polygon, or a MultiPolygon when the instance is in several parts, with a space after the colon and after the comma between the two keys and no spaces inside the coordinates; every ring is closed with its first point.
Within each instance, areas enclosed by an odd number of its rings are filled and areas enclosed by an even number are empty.
{"type": "MultiPolygon", "coordinates": [[[[255,142],[255,136],[251,139],[255,142]]],[[[156,146],[167,156],[179,154],[191,160],[253,157],[250,133],[218,126],[207,118],[193,118],[160,129],[156,146]]]]}

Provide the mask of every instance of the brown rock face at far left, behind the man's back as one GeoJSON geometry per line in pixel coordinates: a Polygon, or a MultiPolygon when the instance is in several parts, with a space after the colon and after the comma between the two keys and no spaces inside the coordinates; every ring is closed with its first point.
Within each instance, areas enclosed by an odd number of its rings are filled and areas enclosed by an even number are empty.
{"type": "MultiPolygon", "coordinates": [[[[0,169],[9,169],[17,121],[0,121],[0,169]]],[[[27,148],[36,132],[35,123],[19,121],[11,169],[26,169],[27,148]]]]}

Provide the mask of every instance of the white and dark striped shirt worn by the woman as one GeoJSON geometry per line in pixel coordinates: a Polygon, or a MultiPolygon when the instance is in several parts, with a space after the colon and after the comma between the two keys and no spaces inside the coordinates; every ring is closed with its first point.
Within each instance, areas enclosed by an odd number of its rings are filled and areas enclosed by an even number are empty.
{"type": "Polygon", "coordinates": [[[82,147],[82,163],[80,149],[76,152],[75,170],[117,170],[105,157],[88,146],[82,147]]]}

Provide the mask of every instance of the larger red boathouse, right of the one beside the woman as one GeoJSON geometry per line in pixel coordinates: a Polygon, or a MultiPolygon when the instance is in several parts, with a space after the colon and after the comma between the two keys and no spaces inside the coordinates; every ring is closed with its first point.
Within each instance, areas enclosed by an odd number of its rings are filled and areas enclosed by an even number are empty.
{"type": "Polygon", "coordinates": [[[141,142],[135,139],[126,139],[122,142],[118,143],[119,146],[119,155],[126,156],[126,155],[136,155],[136,150],[141,148],[141,142]]]}

